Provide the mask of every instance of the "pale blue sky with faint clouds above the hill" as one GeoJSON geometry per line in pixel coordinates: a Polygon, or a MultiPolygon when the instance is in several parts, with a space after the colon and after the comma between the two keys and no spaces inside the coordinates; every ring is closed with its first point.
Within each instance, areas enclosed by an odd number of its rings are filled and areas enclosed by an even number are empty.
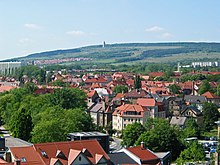
{"type": "Polygon", "coordinates": [[[112,43],[219,42],[219,0],[0,0],[0,60],[112,43]]]}

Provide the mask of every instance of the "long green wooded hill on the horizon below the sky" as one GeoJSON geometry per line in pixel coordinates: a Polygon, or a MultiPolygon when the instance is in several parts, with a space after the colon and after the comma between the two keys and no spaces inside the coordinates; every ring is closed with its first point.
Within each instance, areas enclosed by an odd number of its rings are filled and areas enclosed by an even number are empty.
{"type": "MultiPolygon", "coordinates": [[[[35,53],[8,61],[64,58],[91,58],[92,63],[106,64],[218,61],[220,59],[220,43],[124,43],[106,44],[105,47],[94,45],[76,49],[35,53]]],[[[91,63],[91,61],[87,63],[91,63]]]]}

